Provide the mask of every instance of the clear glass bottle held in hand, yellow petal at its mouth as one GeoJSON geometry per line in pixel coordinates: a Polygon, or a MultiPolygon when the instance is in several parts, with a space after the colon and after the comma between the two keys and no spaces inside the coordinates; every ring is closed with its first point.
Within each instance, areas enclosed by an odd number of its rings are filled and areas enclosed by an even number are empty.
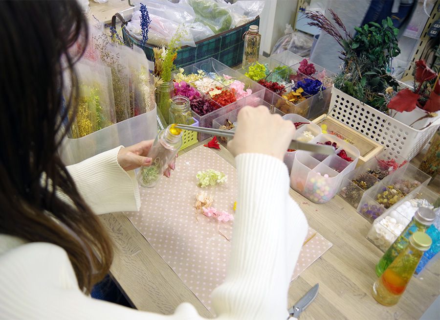
{"type": "Polygon", "coordinates": [[[136,175],[137,182],[143,187],[154,187],[168,164],[176,157],[181,146],[182,131],[180,129],[169,125],[165,130],[159,132],[147,155],[152,159],[152,164],[139,170],[136,175]]]}

